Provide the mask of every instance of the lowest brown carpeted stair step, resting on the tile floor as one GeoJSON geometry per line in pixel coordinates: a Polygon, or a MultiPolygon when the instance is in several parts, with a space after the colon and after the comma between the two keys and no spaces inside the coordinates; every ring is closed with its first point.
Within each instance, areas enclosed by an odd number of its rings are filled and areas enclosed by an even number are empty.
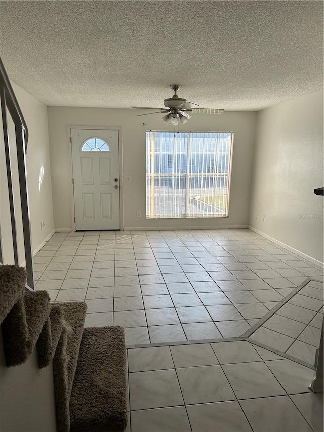
{"type": "Polygon", "coordinates": [[[83,331],[70,399],[71,432],[117,432],[127,426],[124,329],[83,331]]]}

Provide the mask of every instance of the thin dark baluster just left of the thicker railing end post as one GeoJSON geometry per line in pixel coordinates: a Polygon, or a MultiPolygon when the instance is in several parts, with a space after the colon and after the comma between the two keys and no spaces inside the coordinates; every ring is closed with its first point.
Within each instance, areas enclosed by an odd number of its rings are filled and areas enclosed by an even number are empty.
{"type": "Polygon", "coordinates": [[[19,264],[18,259],[18,247],[17,247],[17,231],[16,231],[16,215],[14,205],[14,190],[12,184],[12,170],[10,160],[10,147],[9,147],[9,131],[7,123],[6,113],[6,96],[5,88],[0,89],[0,100],[1,100],[1,113],[2,113],[2,125],[4,131],[4,144],[5,144],[5,156],[6,156],[6,168],[7,168],[7,181],[8,181],[8,195],[9,195],[9,207],[10,207],[10,218],[11,218],[11,231],[12,231],[12,244],[14,249],[15,264],[19,264]]]}

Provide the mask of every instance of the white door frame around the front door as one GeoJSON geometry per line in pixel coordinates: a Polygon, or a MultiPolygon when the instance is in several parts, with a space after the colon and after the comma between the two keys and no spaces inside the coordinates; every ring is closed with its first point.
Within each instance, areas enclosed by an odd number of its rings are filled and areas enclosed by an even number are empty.
{"type": "Polygon", "coordinates": [[[124,175],[123,175],[123,145],[121,139],[120,126],[93,126],[93,125],[67,125],[66,126],[66,144],[69,168],[69,198],[70,198],[70,214],[71,214],[71,227],[72,232],[75,232],[75,209],[74,209],[74,188],[73,188],[73,163],[72,163],[72,140],[71,129],[90,129],[102,131],[118,131],[118,156],[119,156],[119,217],[120,217],[120,231],[124,231],[124,175]]]}

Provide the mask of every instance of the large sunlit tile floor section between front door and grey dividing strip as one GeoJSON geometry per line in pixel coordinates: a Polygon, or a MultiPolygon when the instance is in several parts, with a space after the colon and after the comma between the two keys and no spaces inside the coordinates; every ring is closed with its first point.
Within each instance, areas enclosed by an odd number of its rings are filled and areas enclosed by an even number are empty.
{"type": "Polygon", "coordinates": [[[121,325],[127,345],[239,336],[323,274],[247,229],[56,233],[34,263],[36,289],[85,301],[86,326],[121,325]]]}

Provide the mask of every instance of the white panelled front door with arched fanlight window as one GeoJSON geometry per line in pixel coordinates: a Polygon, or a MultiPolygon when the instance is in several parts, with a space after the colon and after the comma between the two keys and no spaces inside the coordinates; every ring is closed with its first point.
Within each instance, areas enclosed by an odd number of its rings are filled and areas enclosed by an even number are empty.
{"type": "Polygon", "coordinates": [[[120,229],[118,131],[71,129],[76,230],[120,229]]]}

